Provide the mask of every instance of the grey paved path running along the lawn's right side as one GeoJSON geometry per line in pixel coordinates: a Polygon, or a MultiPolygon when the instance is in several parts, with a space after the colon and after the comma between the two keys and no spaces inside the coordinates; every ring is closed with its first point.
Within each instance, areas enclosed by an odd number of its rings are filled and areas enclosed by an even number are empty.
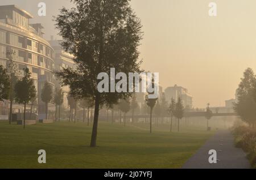
{"type": "Polygon", "coordinates": [[[218,131],[189,160],[183,169],[247,169],[250,163],[241,148],[234,147],[234,137],[230,131],[218,131]],[[217,164],[210,164],[209,150],[217,151],[217,164]]]}

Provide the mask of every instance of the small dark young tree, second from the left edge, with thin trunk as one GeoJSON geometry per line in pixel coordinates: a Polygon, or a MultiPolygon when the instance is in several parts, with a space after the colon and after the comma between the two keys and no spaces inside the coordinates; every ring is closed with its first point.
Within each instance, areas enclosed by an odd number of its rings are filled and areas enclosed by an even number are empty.
{"type": "Polygon", "coordinates": [[[15,101],[24,104],[23,128],[26,122],[26,105],[36,96],[36,88],[28,68],[24,68],[24,76],[15,84],[15,101]]]}

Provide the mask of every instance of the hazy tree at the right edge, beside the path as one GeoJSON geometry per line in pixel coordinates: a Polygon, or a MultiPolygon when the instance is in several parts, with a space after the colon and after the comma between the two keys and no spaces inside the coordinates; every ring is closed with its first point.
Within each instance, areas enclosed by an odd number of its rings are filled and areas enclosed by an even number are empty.
{"type": "Polygon", "coordinates": [[[243,122],[250,127],[256,125],[256,76],[251,68],[243,73],[243,78],[237,89],[237,102],[234,110],[243,122]]]}

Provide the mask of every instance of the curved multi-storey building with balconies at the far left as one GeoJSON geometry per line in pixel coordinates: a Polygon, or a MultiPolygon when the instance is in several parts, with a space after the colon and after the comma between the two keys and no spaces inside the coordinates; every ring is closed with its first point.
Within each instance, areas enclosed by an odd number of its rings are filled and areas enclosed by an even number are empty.
{"type": "MultiPolygon", "coordinates": [[[[40,101],[40,92],[45,82],[54,87],[54,50],[43,38],[43,26],[30,24],[31,18],[31,14],[15,5],[0,6],[0,65],[6,67],[9,52],[14,52],[11,56],[18,65],[20,76],[23,68],[30,70],[38,94],[39,118],[44,118],[45,105],[40,101]]],[[[49,110],[52,108],[53,105],[49,104],[49,110]]]]}

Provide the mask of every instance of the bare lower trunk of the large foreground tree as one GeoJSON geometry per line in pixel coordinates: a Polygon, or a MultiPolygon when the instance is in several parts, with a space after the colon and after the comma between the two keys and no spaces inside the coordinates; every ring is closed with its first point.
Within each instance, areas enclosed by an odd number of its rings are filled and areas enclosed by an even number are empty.
{"type": "Polygon", "coordinates": [[[97,130],[98,130],[98,113],[100,110],[100,98],[101,98],[100,93],[97,93],[96,99],[95,99],[94,121],[93,121],[92,139],[90,142],[90,147],[96,147],[97,130]]]}

